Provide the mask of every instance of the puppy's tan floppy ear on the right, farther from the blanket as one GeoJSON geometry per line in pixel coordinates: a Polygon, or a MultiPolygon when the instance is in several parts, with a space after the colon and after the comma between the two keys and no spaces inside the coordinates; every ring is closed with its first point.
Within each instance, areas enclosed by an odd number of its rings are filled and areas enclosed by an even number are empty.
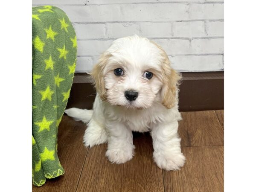
{"type": "MultiPolygon", "coordinates": [[[[152,41],[151,41],[152,42],[152,41]]],[[[168,58],[168,55],[163,50],[162,47],[157,45],[156,43],[152,42],[161,50],[161,56],[163,58],[162,61],[162,76],[163,76],[163,87],[161,90],[161,98],[162,104],[166,106],[166,108],[172,108],[177,102],[177,91],[179,80],[181,76],[177,73],[174,69],[171,68],[171,63],[168,58]]]]}

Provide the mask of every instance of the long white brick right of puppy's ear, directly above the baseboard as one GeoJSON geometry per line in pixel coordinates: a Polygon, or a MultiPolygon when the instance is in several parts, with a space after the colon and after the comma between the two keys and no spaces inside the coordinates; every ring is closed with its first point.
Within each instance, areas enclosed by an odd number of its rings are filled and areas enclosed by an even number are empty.
{"type": "Polygon", "coordinates": [[[177,55],[169,57],[177,71],[219,71],[223,69],[222,55],[177,55]]]}

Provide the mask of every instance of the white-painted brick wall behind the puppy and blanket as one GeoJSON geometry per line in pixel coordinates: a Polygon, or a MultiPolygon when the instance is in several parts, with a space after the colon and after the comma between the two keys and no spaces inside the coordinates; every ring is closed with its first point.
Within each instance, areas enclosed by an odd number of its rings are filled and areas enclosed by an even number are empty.
{"type": "Polygon", "coordinates": [[[73,23],[76,72],[90,72],[111,42],[141,35],[160,44],[178,71],[224,68],[223,0],[33,0],[54,5],[73,23]]]}

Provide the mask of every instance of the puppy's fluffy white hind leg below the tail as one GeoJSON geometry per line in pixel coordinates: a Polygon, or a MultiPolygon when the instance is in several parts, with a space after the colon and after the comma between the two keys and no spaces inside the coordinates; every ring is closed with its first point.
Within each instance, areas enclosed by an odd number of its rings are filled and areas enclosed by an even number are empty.
{"type": "Polygon", "coordinates": [[[108,135],[105,126],[94,119],[91,119],[87,124],[87,129],[84,133],[84,145],[92,147],[94,145],[106,143],[107,140],[108,135]]]}

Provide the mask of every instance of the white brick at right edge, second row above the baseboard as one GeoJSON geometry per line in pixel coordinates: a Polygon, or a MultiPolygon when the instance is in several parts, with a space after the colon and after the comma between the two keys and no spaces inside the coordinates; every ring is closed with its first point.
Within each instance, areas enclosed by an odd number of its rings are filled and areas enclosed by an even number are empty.
{"type": "Polygon", "coordinates": [[[223,54],[223,38],[214,39],[193,39],[191,41],[192,54],[223,54]]]}

